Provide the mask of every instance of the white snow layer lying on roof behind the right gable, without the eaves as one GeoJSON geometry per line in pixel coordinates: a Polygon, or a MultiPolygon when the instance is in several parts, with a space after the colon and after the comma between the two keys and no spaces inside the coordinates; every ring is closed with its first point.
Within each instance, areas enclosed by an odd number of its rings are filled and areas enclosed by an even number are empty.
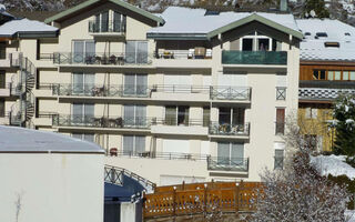
{"type": "Polygon", "coordinates": [[[277,14],[266,12],[221,12],[205,16],[205,9],[190,9],[183,7],[169,7],[161,16],[165,24],[152,28],[149,33],[197,33],[206,34],[232,22],[257,14],[264,19],[276,22],[285,28],[298,31],[292,14],[277,14]]]}

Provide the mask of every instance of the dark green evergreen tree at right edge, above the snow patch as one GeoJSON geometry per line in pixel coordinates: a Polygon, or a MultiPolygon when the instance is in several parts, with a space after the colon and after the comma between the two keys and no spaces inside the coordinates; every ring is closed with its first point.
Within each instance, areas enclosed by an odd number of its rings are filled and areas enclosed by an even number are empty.
{"type": "MultiPolygon", "coordinates": [[[[334,152],[347,155],[347,160],[355,160],[355,95],[341,94],[335,103],[334,118],[336,120],[336,138],[334,152]]],[[[349,162],[349,163],[351,163],[349,162]]],[[[355,162],[354,162],[355,163],[355,162]]]]}

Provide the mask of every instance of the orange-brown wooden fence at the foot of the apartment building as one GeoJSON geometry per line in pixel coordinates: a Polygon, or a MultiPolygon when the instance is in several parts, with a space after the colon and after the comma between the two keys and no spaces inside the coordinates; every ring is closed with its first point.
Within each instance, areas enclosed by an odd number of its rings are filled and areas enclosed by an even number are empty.
{"type": "Polygon", "coordinates": [[[160,186],[145,194],[144,218],[176,216],[206,212],[250,212],[255,209],[252,199],[261,183],[194,183],[160,186]]]}

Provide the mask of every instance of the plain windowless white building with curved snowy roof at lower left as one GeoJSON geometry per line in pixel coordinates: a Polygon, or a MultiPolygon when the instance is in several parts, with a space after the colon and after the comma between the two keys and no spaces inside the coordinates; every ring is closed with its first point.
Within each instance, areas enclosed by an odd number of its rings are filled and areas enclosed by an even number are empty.
{"type": "Polygon", "coordinates": [[[0,221],[103,222],[99,145],[3,125],[0,141],[0,221]]]}

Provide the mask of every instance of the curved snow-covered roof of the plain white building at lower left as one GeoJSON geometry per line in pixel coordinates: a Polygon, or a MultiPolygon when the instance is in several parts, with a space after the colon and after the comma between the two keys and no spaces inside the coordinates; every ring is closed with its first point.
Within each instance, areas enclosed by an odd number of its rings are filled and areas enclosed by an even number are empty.
{"type": "Polygon", "coordinates": [[[95,143],[54,132],[0,125],[0,153],[104,153],[95,143]]]}

